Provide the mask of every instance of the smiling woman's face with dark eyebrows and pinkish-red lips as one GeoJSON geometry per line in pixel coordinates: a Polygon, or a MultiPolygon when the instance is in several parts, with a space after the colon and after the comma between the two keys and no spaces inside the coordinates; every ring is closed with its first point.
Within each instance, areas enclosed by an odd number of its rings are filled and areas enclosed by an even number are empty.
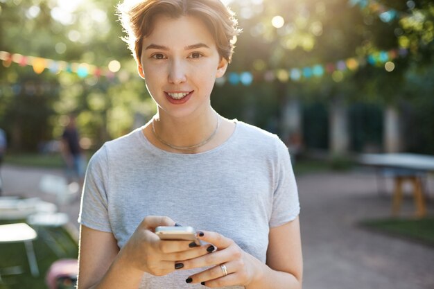
{"type": "Polygon", "coordinates": [[[212,88],[227,61],[196,17],[160,16],[143,40],[139,73],[158,105],[159,114],[198,116],[209,109],[212,88]]]}

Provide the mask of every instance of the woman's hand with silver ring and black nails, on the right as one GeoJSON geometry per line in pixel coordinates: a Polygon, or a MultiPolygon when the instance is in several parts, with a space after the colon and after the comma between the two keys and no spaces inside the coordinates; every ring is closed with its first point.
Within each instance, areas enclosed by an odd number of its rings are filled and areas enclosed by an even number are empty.
{"type": "Polygon", "coordinates": [[[261,277],[261,265],[263,265],[261,261],[244,252],[234,240],[213,231],[200,231],[198,237],[210,243],[208,250],[211,252],[183,261],[182,269],[213,267],[191,275],[186,279],[187,283],[202,283],[211,288],[248,286],[254,279],[261,277]],[[213,245],[217,247],[215,252],[213,245]]]}

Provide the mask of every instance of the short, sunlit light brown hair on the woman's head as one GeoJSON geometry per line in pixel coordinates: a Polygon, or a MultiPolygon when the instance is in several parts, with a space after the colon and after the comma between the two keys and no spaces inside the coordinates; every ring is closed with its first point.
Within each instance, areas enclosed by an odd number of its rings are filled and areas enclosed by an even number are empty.
{"type": "Polygon", "coordinates": [[[152,33],[153,22],[158,15],[175,19],[194,16],[204,21],[216,41],[218,54],[227,62],[232,60],[234,40],[241,33],[234,12],[220,0],[125,0],[117,6],[116,14],[127,33],[122,39],[138,62],[143,38],[152,33]]]}

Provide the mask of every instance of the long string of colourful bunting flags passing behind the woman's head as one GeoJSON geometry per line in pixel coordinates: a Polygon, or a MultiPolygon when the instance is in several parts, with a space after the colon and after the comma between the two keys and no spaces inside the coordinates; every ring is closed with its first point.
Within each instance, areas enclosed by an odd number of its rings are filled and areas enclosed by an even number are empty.
{"type": "MultiPolygon", "coordinates": [[[[356,71],[365,64],[370,64],[375,67],[384,67],[386,71],[393,71],[394,64],[392,60],[398,57],[406,57],[408,54],[407,49],[392,49],[390,51],[378,51],[371,53],[365,57],[353,57],[345,60],[338,60],[337,62],[327,64],[313,64],[309,67],[291,67],[289,69],[275,69],[267,71],[241,71],[229,72],[223,78],[218,78],[216,83],[223,85],[229,82],[230,85],[252,85],[254,80],[265,80],[272,82],[279,80],[280,82],[298,82],[301,80],[309,80],[311,78],[321,78],[329,74],[331,78],[340,82],[344,78],[345,71],[356,71]]],[[[35,73],[40,74],[45,70],[51,73],[60,73],[61,71],[67,73],[76,73],[79,78],[87,78],[87,76],[96,76],[100,78],[105,76],[108,80],[117,79],[120,82],[126,82],[130,79],[130,73],[121,70],[120,62],[112,60],[107,66],[107,69],[96,67],[87,63],[69,63],[65,61],[57,61],[46,58],[37,58],[33,56],[25,56],[17,53],[9,53],[0,51],[0,60],[3,62],[4,67],[10,67],[12,62],[24,67],[29,65],[33,67],[35,73]]]]}

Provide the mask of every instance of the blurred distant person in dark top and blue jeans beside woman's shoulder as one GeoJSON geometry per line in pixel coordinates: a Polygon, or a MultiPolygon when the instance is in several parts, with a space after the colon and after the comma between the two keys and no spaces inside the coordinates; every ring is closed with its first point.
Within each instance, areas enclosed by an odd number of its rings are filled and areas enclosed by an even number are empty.
{"type": "Polygon", "coordinates": [[[67,126],[62,134],[60,151],[67,166],[68,183],[76,181],[81,187],[85,177],[85,157],[80,147],[80,134],[76,127],[76,116],[71,114],[68,118],[67,126]]]}

